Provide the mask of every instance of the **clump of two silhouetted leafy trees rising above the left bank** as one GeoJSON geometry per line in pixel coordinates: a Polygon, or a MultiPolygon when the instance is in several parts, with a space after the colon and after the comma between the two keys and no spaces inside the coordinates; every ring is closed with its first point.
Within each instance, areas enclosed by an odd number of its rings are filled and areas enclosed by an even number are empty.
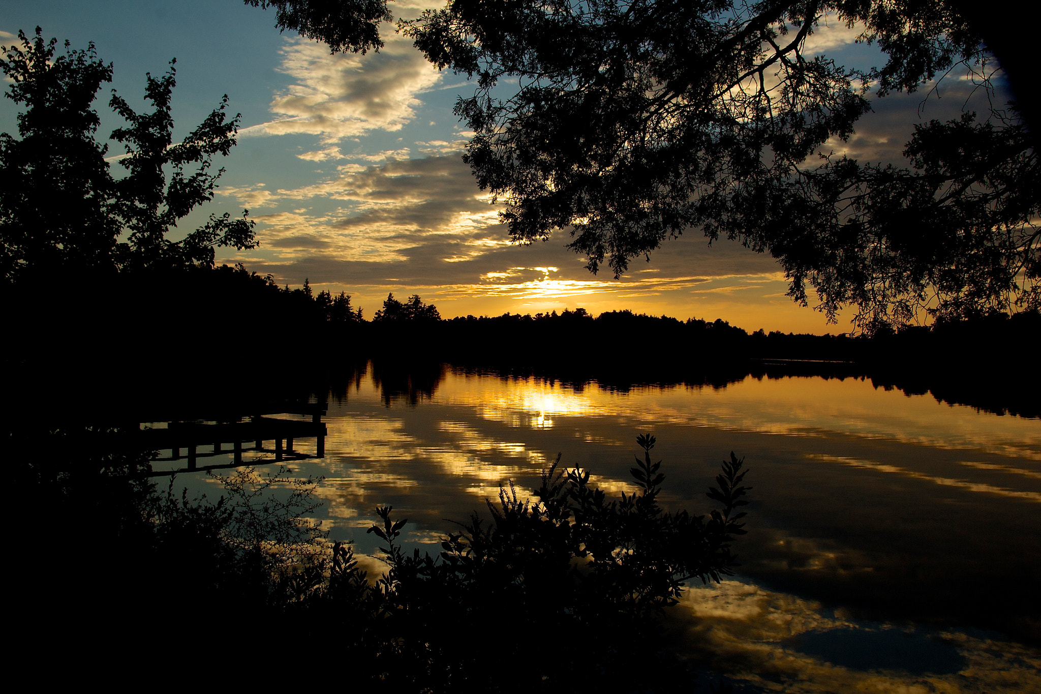
{"type": "Polygon", "coordinates": [[[213,199],[224,170],[213,157],[235,144],[238,117],[227,118],[227,96],[183,142],[173,142],[174,60],[160,78],[146,76],[151,112],[137,113],[112,92],[109,105],[126,122],[111,139],[125,146],[126,175],[113,177],[107,145],[95,135],[93,104],[111,63],[94,45],[55,56],[56,40],[42,30],[22,46],[0,47],[0,69],[11,80],[5,95],[24,105],[20,139],[0,134],[0,272],[7,281],[56,266],[103,271],[212,267],[215,247],[256,246],[248,212],[211,214],[180,240],[168,235],[188,212],[213,199]],[[194,171],[189,168],[195,164],[194,171]],[[168,180],[169,172],[169,180],[168,180]]]}

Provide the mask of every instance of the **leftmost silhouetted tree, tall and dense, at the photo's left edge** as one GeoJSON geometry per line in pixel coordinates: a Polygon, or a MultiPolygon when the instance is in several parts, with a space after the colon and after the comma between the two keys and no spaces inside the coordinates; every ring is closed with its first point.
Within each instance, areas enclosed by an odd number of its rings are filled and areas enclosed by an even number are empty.
{"type": "MultiPolygon", "coordinates": [[[[0,134],[0,273],[80,265],[110,266],[121,227],[109,213],[113,181],[106,148],[94,139],[98,113],[91,107],[111,65],[94,45],[54,56],[55,41],[39,31],[25,51],[0,60],[11,84],[4,95],[24,104],[20,139],[0,134]]],[[[5,48],[0,47],[5,50],[5,48]]]]}

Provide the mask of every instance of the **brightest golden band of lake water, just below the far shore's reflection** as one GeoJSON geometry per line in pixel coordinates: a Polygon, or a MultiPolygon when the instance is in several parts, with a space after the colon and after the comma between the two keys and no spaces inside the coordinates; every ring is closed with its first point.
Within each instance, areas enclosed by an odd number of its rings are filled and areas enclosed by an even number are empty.
{"type": "Polygon", "coordinates": [[[1037,420],[940,405],[931,395],[877,389],[863,379],[747,378],[727,388],[641,387],[623,393],[534,378],[503,381],[453,374],[434,400],[468,405],[482,418],[514,427],[593,414],[634,425],[668,422],[803,437],[836,432],[1041,460],[1037,420]],[[691,409],[695,401],[697,407],[691,409]]]}

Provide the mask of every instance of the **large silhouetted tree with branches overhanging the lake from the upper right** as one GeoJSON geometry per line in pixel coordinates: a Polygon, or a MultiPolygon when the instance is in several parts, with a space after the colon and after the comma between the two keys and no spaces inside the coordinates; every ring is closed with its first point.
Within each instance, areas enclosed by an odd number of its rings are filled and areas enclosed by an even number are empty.
{"type": "MultiPolygon", "coordinates": [[[[280,16],[283,28],[346,48],[328,3],[278,4],[310,12],[280,16]]],[[[794,300],[812,287],[830,319],[852,304],[871,330],[1041,305],[1041,174],[1022,119],[1035,97],[1022,42],[985,11],[962,0],[452,0],[399,27],[438,68],[476,78],[456,105],[476,133],[464,160],[505,201],[517,241],[568,229],[590,271],[617,276],[697,229],[769,252],[794,300]],[[804,55],[829,17],[862,26],[886,65],[804,55]],[[920,126],[908,168],[817,159],[870,109],[869,87],[912,92],[959,62],[986,81],[994,50],[1020,87],[1008,111],[920,126]]]]}

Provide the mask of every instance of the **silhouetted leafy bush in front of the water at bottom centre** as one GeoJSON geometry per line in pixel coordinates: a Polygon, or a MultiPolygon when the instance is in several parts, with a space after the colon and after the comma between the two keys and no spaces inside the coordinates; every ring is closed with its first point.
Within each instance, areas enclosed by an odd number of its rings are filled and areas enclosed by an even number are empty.
{"type": "Polygon", "coordinates": [[[424,580],[478,591],[480,600],[496,597],[484,593],[486,587],[505,591],[502,597],[518,610],[530,605],[586,618],[592,617],[590,611],[598,618],[607,617],[605,611],[645,617],[675,605],[690,579],[708,583],[731,575],[735,558],[730,543],[745,533],[739,522],[745,514],[736,511],[747,504],[741,499],[750,489],[741,486],[743,461],[731,454],[723,463],[716,478],[719,489],[708,493],[722,510],[706,521],[705,516],[668,513],[659,506],[665,475],[659,471],[661,461],[651,459],[655,437],[641,435],[637,443],[643,458],[636,458],[631,472],[638,491],[608,502],[602,490],[589,486],[588,470],[560,469],[558,457],[542,472],[537,503],[520,500],[510,483],[500,490],[498,505],[487,502],[489,525],[475,513],[461,533],[442,541],[441,564],[430,558],[417,563],[417,555],[402,554],[393,540],[406,521],[392,522],[391,509],[378,508],[383,528],[374,525],[370,532],[387,543],[383,551],[391,571],[384,593],[396,594],[399,576],[415,571],[424,580]]]}

